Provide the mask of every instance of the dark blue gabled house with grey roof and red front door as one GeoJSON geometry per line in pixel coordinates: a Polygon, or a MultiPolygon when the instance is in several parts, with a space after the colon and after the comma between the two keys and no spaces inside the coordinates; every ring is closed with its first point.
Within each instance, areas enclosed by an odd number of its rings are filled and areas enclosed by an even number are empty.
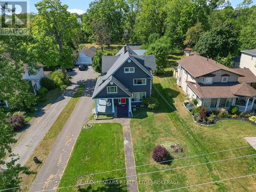
{"type": "Polygon", "coordinates": [[[102,56],[102,74],[98,77],[92,98],[95,113],[132,116],[132,106],[140,106],[152,93],[154,55],[138,55],[125,45],[115,56],[102,56]]]}

